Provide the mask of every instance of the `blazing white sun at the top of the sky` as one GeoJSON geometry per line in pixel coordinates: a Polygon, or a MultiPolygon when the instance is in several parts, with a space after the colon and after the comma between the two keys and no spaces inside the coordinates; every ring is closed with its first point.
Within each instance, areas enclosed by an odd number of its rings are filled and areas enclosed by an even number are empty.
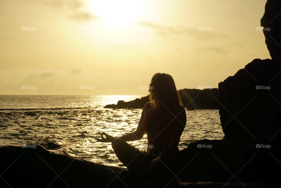
{"type": "Polygon", "coordinates": [[[88,0],[88,4],[93,14],[115,26],[138,20],[143,7],[140,1],[133,0],[88,0]]]}

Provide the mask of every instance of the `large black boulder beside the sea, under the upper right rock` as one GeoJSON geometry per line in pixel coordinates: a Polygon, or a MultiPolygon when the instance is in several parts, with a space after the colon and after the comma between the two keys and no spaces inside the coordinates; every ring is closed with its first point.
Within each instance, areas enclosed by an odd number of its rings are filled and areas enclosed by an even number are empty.
{"type": "Polygon", "coordinates": [[[219,83],[222,130],[233,145],[280,147],[280,70],[280,59],[255,59],[219,83]]]}

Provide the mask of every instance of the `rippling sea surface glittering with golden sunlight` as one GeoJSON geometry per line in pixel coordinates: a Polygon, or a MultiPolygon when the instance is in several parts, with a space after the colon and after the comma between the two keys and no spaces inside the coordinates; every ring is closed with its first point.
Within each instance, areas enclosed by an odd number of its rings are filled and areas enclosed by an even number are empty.
{"type": "MultiPolygon", "coordinates": [[[[95,141],[102,131],[121,136],[134,131],[142,109],[104,109],[118,100],[141,96],[0,96],[0,145],[41,144],[53,152],[101,164],[124,167],[110,143],[95,141]]],[[[194,140],[222,139],[218,110],[186,111],[187,123],[179,148],[194,140]]],[[[147,147],[146,135],[130,142],[147,147]]]]}

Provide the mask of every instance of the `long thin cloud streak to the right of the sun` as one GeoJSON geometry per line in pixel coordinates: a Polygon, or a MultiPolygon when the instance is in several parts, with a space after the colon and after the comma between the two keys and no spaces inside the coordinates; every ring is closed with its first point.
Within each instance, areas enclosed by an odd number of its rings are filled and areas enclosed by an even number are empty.
{"type": "Polygon", "coordinates": [[[198,28],[181,28],[181,27],[166,27],[156,23],[151,22],[136,22],[137,25],[141,27],[146,27],[153,29],[162,36],[196,36],[201,35],[202,39],[212,39],[213,37],[225,38],[226,35],[213,32],[213,31],[200,31],[198,28]]]}

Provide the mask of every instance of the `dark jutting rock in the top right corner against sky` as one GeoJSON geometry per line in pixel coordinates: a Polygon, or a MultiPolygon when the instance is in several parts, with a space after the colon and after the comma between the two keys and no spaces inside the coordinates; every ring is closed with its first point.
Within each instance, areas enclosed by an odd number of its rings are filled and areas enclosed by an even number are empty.
{"type": "Polygon", "coordinates": [[[265,29],[265,43],[272,59],[281,57],[281,1],[268,0],[265,4],[265,12],[261,18],[261,26],[265,29]]]}

